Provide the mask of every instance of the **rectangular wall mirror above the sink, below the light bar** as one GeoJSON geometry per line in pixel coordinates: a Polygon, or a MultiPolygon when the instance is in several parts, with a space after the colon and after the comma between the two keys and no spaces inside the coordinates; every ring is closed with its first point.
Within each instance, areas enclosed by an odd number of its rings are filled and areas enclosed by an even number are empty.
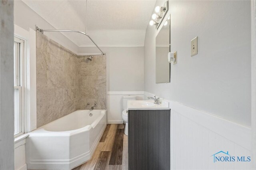
{"type": "Polygon", "coordinates": [[[170,16],[156,36],[156,83],[170,83],[170,16]]]}

